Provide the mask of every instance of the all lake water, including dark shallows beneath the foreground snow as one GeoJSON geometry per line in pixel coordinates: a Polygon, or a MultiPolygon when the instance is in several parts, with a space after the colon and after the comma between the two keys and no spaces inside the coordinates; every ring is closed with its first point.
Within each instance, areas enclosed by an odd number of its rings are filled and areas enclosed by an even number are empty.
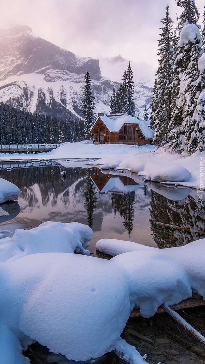
{"type": "MultiPolygon", "coordinates": [[[[4,224],[16,222],[32,228],[44,221],[78,221],[92,227],[94,234],[88,249],[93,255],[96,255],[95,244],[101,238],[167,248],[205,237],[205,209],[198,202],[197,191],[165,187],[160,183],[145,184],[135,174],[76,167],[71,161],[40,164],[36,161],[28,163],[27,168],[13,165],[7,171],[5,165],[1,169],[0,176],[15,183],[20,196],[18,202],[1,205],[9,215],[0,218],[0,229],[4,224]],[[61,178],[63,170],[66,171],[64,179],[61,178]]],[[[185,312],[183,317],[192,319],[190,323],[205,335],[204,309],[185,312]]],[[[155,315],[151,322],[143,318],[129,320],[122,337],[142,355],[147,353],[150,364],[159,360],[165,364],[205,363],[204,346],[165,314],[155,315]]],[[[48,355],[47,359],[40,357],[40,360],[73,364],[62,356],[48,355]]],[[[100,363],[124,362],[111,355],[102,358],[100,363]]]]}

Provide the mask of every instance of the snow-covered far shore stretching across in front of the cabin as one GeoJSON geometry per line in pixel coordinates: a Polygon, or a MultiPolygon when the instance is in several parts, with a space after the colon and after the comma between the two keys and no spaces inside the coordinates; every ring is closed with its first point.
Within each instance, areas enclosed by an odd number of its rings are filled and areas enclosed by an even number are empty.
{"type": "Polygon", "coordinates": [[[145,177],[145,181],[162,182],[204,189],[205,152],[188,156],[173,154],[154,145],[94,145],[91,142],[64,143],[48,153],[0,154],[0,160],[95,159],[84,162],[102,169],[127,169],[145,177]],[[99,160],[96,160],[99,159],[99,160]]]}

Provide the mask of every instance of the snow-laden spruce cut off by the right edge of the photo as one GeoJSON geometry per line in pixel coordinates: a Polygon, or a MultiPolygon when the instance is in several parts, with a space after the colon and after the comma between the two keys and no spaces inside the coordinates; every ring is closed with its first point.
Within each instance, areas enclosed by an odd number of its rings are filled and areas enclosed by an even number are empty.
{"type": "Polygon", "coordinates": [[[200,71],[197,80],[198,92],[196,96],[198,99],[192,119],[194,130],[188,144],[189,154],[194,153],[197,149],[205,150],[205,53],[198,60],[198,68],[200,71]]]}

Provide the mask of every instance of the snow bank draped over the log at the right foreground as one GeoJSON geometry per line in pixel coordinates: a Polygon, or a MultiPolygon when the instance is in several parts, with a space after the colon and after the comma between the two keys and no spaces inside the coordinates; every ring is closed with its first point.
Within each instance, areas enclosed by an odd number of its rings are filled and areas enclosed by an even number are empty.
{"type": "Polygon", "coordinates": [[[158,249],[112,239],[100,240],[96,247],[116,255],[111,259],[124,270],[130,287],[131,304],[139,307],[142,316],[150,317],[162,303],[176,304],[199,293],[205,298],[205,239],[176,248],[158,249]],[[113,248],[113,252],[112,252],[113,248]],[[119,249],[119,250],[118,250],[119,249]],[[146,287],[146,288],[145,288],[146,287]]]}

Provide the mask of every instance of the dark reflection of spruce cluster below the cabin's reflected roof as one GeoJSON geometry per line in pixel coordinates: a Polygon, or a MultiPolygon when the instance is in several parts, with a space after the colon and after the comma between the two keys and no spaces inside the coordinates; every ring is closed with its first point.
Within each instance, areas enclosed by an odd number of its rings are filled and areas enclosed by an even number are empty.
{"type": "Polygon", "coordinates": [[[129,237],[131,236],[131,232],[133,230],[134,200],[135,200],[134,191],[128,192],[123,195],[120,193],[111,194],[111,201],[112,201],[112,207],[114,209],[114,214],[116,215],[116,212],[118,212],[120,216],[124,218],[123,225],[125,226],[125,230],[127,230],[129,237]]]}

